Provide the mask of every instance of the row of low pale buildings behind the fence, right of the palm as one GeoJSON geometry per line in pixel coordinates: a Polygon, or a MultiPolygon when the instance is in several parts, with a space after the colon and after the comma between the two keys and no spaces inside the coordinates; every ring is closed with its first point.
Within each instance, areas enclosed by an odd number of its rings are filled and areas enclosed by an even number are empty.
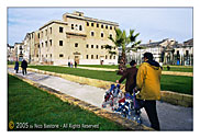
{"type": "Polygon", "coordinates": [[[186,41],[184,44],[178,44],[173,38],[160,42],[149,41],[149,43],[141,44],[130,50],[126,54],[127,62],[134,59],[137,64],[141,64],[143,54],[146,51],[152,53],[154,59],[163,65],[193,65],[193,39],[186,41]]]}

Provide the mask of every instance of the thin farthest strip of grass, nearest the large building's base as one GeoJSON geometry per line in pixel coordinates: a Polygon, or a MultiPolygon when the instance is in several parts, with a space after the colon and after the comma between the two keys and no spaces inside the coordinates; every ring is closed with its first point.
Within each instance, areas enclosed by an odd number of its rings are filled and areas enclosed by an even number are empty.
{"type": "MultiPolygon", "coordinates": [[[[91,68],[108,68],[108,69],[118,69],[116,65],[79,65],[80,67],[91,67],[91,68]]],[[[127,66],[129,68],[130,66],[127,66]]],[[[193,67],[187,67],[187,66],[169,66],[169,71],[179,71],[179,72],[193,72],[193,67]]],[[[138,68],[138,66],[137,66],[138,68]]],[[[167,70],[167,66],[164,66],[164,71],[167,70]]]]}

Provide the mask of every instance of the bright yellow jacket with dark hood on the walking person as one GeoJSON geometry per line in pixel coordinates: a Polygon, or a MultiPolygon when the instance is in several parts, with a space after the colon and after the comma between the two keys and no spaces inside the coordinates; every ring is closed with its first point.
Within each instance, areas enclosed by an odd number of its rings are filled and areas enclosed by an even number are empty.
{"type": "Polygon", "coordinates": [[[141,89],[136,97],[140,100],[160,100],[160,76],[162,69],[158,62],[143,62],[136,77],[137,89],[141,89]]]}

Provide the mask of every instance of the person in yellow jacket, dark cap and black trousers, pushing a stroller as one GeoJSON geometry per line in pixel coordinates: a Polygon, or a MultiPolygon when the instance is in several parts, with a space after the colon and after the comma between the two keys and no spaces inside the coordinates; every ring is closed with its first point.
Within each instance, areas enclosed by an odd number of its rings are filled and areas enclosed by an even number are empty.
{"type": "Polygon", "coordinates": [[[143,103],[151,122],[151,127],[160,130],[156,101],[160,100],[162,68],[153,58],[152,53],[144,54],[144,62],[140,66],[137,71],[135,91],[140,90],[136,99],[140,103],[143,103]]]}

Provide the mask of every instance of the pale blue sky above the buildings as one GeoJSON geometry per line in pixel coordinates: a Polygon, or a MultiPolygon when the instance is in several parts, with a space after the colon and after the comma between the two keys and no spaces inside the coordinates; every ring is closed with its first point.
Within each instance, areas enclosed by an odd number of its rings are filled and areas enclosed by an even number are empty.
{"type": "Polygon", "coordinates": [[[14,45],[25,34],[38,30],[51,20],[62,20],[65,12],[81,11],[86,16],[118,22],[121,30],[140,33],[142,43],[175,38],[182,43],[192,38],[192,8],[9,8],[8,43],[14,45]]]}

